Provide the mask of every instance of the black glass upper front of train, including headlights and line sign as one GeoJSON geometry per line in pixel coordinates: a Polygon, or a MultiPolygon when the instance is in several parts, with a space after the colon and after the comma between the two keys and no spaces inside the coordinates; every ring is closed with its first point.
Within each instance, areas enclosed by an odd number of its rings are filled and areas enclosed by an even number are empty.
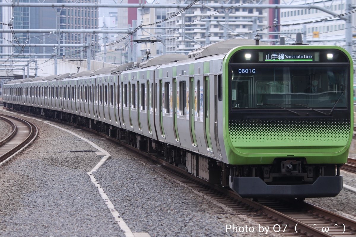
{"type": "Polygon", "coordinates": [[[239,52],[240,59],[235,55],[239,62],[229,68],[231,109],[347,108],[350,75],[344,59],[335,52],[302,54],[294,52],[288,60],[285,54],[278,59],[278,53],[239,52]]]}

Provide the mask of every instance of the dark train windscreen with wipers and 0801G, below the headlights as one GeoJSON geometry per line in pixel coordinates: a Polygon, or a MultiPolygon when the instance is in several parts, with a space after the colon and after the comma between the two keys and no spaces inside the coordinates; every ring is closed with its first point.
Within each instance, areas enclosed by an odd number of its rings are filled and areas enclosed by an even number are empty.
{"type": "Polygon", "coordinates": [[[231,109],[346,108],[349,98],[345,64],[328,67],[231,64],[229,78],[231,109]]]}

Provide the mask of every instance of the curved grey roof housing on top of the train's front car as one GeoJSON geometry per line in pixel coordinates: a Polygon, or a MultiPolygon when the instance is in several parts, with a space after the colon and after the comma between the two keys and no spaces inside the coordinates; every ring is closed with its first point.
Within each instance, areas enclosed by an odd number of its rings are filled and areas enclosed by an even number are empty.
{"type": "MultiPolygon", "coordinates": [[[[259,42],[259,44],[268,45],[261,41],[259,42]]],[[[231,49],[242,45],[256,45],[256,41],[253,39],[227,39],[225,41],[216,42],[195,49],[188,54],[188,58],[198,59],[212,55],[226,54],[231,49]]]]}

